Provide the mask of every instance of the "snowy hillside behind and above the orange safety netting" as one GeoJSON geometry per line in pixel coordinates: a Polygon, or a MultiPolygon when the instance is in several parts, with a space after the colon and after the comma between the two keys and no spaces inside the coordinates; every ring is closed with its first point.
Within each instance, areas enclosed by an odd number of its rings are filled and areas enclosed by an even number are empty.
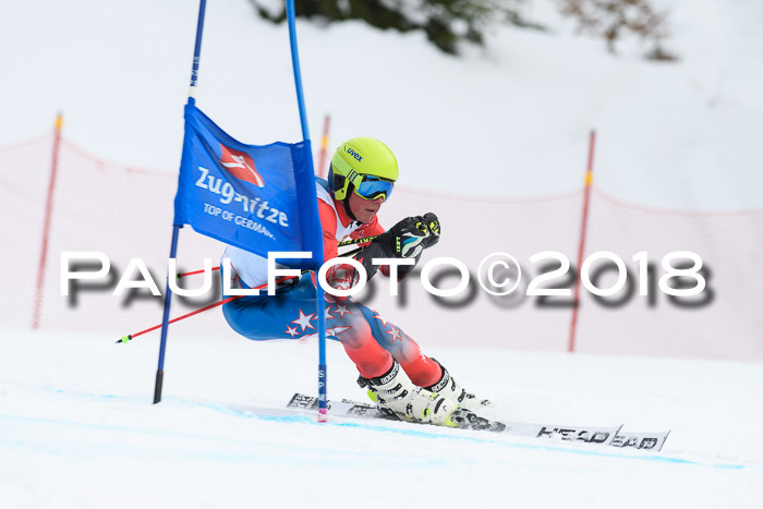
{"type": "MultiPolygon", "coordinates": [[[[423,34],[299,22],[312,137],[384,140],[412,187],[524,196],[580,189],[588,133],[596,182],[668,208],[763,207],[763,36],[758,0],[661,1],[678,63],[577,36],[549,2],[546,33],[494,28],[486,49],[439,52],[423,34]]],[[[120,162],[180,159],[197,2],[7,2],[0,144],[48,129],[120,162]]],[[[208,2],[198,106],[249,143],[301,138],[286,24],[246,0],[208,2]]],[[[316,146],[318,144],[316,143],[316,146]]]]}

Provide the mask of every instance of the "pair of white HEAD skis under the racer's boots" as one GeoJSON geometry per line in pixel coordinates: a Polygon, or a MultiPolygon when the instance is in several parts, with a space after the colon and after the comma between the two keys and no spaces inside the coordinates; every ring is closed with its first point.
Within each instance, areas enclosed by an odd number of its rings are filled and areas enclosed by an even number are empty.
{"type": "MultiPolygon", "coordinates": [[[[318,398],[314,396],[295,393],[287,408],[299,410],[317,410],[318,398]]],[[[328,409],[331,415],[341,417],[383,419],[387,421],[400,421],[395,413],[373,403],[342,399],[329,401],[328,409]]],[[[477,415],[468,409],[457,409],[451,415],[458,428],[506,433],[508,435],[532,438],[548,438],[577,444],[593,444],[602,446],[619,447],[623,449],[641,449],[658,451],[667,439],[668,432],[662,433],[630,433],[623,432],[622,425],[611,427],[592,426],[559,426],[552,424],[529,424],[498,422],[477,415]]]]}

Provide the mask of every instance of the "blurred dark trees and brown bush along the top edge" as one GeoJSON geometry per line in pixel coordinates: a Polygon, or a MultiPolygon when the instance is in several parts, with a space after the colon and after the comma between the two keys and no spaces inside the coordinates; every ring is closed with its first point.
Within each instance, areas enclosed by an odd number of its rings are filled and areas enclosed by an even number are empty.
{"type": "MultiPolygon", "coordinates": [[[[489,26],[510,24],[521,28],[545,29],[528,17],[533,1],[547,0],[294,0],[298,16],[316,23],[361,20],[372,26],[399,32],[422,31],[440,50],[458,54],[459,45],[484,45],[489,26]]],[[[668,60],[666,16],[652,0],[554,0],[578,28],[601,37],[607,48],[626,35],[637,35],[651,45],[647,58],[668,60]]],[[[286,20],[283,2],[250,0],[257,13],[274,23],[286,20]]]]}

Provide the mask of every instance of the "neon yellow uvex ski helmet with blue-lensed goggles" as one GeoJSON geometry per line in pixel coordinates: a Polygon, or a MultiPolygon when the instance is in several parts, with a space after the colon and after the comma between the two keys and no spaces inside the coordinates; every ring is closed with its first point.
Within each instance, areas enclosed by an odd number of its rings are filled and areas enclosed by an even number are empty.
{"type": "Polygon", "coordinates": [[[328,185],[339,201],[352,191],[365,199],[387,199],[397,180],[395,154],[373,137],[354,137],[339,145],[328,171],[328,185]]]}

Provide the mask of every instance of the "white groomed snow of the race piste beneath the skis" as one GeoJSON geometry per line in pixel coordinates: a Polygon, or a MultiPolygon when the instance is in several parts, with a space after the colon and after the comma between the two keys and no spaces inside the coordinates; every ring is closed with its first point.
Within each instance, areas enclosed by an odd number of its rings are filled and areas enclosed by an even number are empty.
{"type": "MultiPolygon", "coordinates": [[[[154,340],[2,337],[3,508],[756,508],[763,496],[760,364],[429,349],[495,400],[494,416],[673,428],[650,453],[284,415],[293,391],[314,392],[313,342],[173,338],[152,405],[154,340]]],[[[330,393],[362,398],[340,347],[328,354],[330,393]]]]}

